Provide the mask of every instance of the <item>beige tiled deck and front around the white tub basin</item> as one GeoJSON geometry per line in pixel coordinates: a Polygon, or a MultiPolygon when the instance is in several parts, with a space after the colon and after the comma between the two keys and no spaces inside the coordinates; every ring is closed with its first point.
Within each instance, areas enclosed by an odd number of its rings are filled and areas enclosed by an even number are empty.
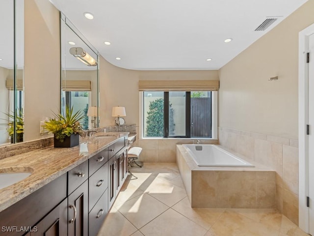
{"type": "Polygon", "coordinates": [[[255,167],[199,167],[182,145],[177,164],[191,207],[275,208],[276,172],[255,167]]]}

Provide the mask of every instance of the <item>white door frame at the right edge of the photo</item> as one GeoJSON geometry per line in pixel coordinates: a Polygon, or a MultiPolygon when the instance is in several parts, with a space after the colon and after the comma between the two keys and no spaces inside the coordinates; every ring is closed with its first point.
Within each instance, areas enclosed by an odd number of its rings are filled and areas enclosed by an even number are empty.
{"type": "MultiPolygon", "coordinates": [[[[299,228],[309,233],[309,143],[306,125],[309,124],[309,36],[314,33],[314,24],[299,32],[299,228]]],[[[311,56],[314,59],[314,55],[311,56]]]]}

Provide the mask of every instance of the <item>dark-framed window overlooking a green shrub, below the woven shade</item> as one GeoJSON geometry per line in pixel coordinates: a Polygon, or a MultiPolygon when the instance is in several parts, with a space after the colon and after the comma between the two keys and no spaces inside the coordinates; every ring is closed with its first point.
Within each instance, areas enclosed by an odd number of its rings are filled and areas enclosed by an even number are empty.
{"type": "Polygon", "coordinates": [[[143,91],[143,137],[213,138],[214,91],[143,91]]]}

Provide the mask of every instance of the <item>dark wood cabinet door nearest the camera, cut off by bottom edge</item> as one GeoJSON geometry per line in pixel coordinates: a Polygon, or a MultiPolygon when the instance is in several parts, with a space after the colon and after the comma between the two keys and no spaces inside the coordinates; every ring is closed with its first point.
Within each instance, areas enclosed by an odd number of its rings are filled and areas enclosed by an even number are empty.
{"type": "Polygon", "coordinates": [[[32,228],[30,236],[61,236],[67,235],[67,203],[63,200],[37,225],[32,228]]]}

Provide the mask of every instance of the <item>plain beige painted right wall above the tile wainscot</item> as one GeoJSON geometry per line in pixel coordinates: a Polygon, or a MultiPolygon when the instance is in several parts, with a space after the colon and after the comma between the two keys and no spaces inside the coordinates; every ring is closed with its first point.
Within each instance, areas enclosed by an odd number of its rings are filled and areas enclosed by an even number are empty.
{"type": "Polygon", "coordinates": [[[219,70],[219,126],[298,138],[298,33],[313,9],[309,0],[219,70]]]}

